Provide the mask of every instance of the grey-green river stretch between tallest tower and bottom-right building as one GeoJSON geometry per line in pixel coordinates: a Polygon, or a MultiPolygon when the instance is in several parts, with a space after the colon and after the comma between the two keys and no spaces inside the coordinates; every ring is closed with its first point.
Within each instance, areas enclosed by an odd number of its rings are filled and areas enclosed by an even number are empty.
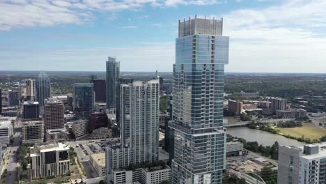
{"type": "Polygon", "coordinates": [[[246,127],[228,128],[226,132],[229,135],[232,135],[233,137],[240,137],[246,139],[247,141],[257,141],[258,144],[262,144],[263,146],[272,146],[275,141],[278,141],[279,145],[286,145],[286,146],[304,145],[304,142],[300,142],[294,139],[288,139],[281,135],[274,135],[269,132],[250,129],[246,127]]]}

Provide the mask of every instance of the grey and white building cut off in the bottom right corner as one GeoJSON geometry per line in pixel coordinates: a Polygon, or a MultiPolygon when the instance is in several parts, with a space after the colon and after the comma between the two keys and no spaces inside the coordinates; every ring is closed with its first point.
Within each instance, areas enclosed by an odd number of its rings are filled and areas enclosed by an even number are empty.
{"type": "Polygon", "coordinates": [[[277,183],[326,183],[326,144],[279,146],[277,183]]]}

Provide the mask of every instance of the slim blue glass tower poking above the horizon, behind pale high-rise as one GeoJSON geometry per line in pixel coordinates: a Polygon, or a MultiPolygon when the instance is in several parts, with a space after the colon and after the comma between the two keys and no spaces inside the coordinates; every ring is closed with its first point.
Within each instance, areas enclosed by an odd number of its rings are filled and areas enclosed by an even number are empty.
{"type": "Polygon", "coordinates": [[[116,108],[119,90],[120,62],[109,57],[107,60],[107,109],[116,108]]]}

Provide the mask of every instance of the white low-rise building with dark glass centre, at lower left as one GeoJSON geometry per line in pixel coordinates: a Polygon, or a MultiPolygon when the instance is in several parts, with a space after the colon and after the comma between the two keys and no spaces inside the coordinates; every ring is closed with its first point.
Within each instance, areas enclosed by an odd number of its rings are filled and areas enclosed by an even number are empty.
{"type": "Polygon", "coordinates": [[[48,144],[31,148],[31,179],[70,174],[69,147],[65,144],[48,144]]]}

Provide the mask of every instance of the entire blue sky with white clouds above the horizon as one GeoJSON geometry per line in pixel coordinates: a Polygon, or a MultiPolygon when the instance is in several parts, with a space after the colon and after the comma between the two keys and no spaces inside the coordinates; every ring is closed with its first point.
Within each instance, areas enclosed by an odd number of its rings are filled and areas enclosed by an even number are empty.
{"type": "Polygon", "coordinates": [[[226,72],[326,71],[324,0],[0,0],[0,70],[172,71],[178,20],[224,17],[226,72]]]}

